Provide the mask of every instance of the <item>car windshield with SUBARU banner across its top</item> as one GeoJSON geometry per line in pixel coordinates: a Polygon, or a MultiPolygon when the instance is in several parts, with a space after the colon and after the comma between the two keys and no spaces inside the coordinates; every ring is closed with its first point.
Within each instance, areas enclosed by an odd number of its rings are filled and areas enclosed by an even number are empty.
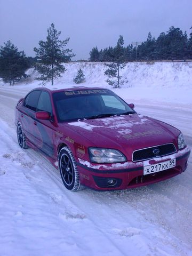
{"type": "Polygon", "coordinates": [[[135,113],[110,90],[55,92],[53,101],[59,122],[135,113]]]}

